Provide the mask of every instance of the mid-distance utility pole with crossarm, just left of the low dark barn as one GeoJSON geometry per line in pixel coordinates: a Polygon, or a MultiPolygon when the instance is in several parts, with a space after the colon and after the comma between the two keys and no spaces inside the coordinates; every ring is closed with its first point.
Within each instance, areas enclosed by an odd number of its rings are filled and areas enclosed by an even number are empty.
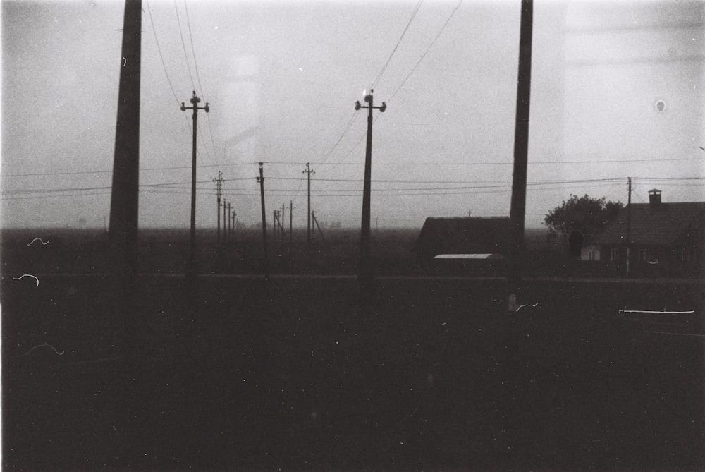
{"type": "Polygon", "coordinates": [[[381,107],[374,107],[372,101],[374,90],[370,90],[368,95],[364,96],[364,101],[369,103],[367,106],[362,106],[360,101],[355,102],[355,109],[367,108],[367,148],[364,152],[364,186],[362,187],[362,224],[360,225],[360,274],[358,279],[362,291],[372,289],[372,262],[369,260],[369,194],[372,180],[372,110],[378,108],[384,113],[387,109],[387,104],[382,102],[381,107]]]}

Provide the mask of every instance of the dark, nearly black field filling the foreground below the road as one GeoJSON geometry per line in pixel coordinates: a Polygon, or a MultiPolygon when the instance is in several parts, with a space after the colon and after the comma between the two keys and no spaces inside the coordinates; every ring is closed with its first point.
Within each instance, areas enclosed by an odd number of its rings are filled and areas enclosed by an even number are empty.
{"type": "Polygon", "coordinates": [[[4,277],[6,470],[705,467],[697,284],[183,284],[116,313],[103,277],[4,277]]]}

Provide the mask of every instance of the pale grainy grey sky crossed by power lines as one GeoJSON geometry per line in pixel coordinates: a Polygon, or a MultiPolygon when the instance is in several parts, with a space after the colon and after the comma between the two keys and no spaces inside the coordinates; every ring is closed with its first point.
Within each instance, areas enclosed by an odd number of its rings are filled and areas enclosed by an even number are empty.
{"type": "MultiPolygon", "coordinates": [[[[197,227],[216,184],[238,222],[293,203],[360,226],[374,89],[372,225],[508,216],[520,0],[143,0],[140,227],[197,227]]],[[[109,221],[124,3],[2,3],[3,227],[109,221]]],[[[571,194],[705,201],[705,1],[534,0],[528,227],[571,194]]],[[[137,106],[135,104],[135,106],[137,106]]]]}

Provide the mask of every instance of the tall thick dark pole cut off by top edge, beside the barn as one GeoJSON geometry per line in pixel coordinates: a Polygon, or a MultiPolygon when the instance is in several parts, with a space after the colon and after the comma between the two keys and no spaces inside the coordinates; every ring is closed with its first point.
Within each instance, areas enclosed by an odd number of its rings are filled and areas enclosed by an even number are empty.
{"type": "Polygon", "coordinates": [[[522,282],[524,225],[526,215],[527,161],[529,150],[529,103],[531,97],[533,0],[522,0],[519,30],[519,73],[517,113],[514,131],[514,175],[510,208],[511,242],[509,248],[508,310],[518,309],[517,294],[522,282]]]}

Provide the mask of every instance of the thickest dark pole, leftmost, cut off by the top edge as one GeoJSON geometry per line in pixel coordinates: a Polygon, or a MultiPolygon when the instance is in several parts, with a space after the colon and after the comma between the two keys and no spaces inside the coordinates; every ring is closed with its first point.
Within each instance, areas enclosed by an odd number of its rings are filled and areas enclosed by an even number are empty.
{"type": "Polygon", "coordinates": [[[133,297],[137,284],[137,217],[140,189],[140,63],[142,1],[125,0],[118,115],[110,200],[109,241],[117,298],[133,297]]]}

